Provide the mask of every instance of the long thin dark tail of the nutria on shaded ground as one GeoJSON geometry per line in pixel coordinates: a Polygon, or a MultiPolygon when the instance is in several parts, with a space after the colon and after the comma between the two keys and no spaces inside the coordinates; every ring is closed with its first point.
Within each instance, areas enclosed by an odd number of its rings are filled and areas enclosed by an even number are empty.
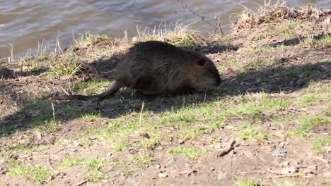
{"type": "Polygon", "coordinates": [[[56,100],[85,100],[88,99],[98,99],[98,101],[102,101],[103,99],[112,96],[115,94],[121,87],[123,87],[122,83],[115,82],[112,87],[110,87],[108,90],[101,94],[95,94],[95,95],[65,95],[61,97],[55,97],[56,100]]]}

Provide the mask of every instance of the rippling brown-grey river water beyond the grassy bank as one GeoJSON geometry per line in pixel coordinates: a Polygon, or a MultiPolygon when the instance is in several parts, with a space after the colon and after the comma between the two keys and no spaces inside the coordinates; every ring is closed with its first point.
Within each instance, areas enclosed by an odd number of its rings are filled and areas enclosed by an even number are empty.
{"type": "MultiPolygon", "coordinates": [[[[249,8],[258,8],[261,1],[233,0],[249,8]]],[[[153,29],[162,21],[192,23],[204,16],[211,24],[220,18],[222,25],[230,23],[242,11],[242,6],[220,0],[0,0],[0,58],[22,56],[37,51],[38,42],[53,50],[59,38],[62,48],[69,46],[73,35],[90,32],[110,37],[137,35],[137,26],[153,29]],[[191,10],[191,11],[190,11],[191,10]]],[[[331,0],[289,0],[291,7],[313,4],[331,8],[331,0]]],[[[200,33],[213,33],[214,28],[199,21],[192,29],[200,33]]]]}

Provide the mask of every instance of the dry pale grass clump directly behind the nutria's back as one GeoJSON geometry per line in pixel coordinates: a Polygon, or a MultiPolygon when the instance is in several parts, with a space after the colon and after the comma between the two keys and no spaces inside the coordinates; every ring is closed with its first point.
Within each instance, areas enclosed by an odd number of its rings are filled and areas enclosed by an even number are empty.
{"type": "Polygon", "coordinates": [[[199,37],[194,30],[190,30],[188,26],[176,23],[173,30],[168,30],[165,25],[163,29],[161,26],[158,29],[155,27],[151,32],[146,29],[142,31],[137,28],[138,36],[134,38],[134,42],[157,40],[183,47],[204,44],[202,37],[199,37]]]}

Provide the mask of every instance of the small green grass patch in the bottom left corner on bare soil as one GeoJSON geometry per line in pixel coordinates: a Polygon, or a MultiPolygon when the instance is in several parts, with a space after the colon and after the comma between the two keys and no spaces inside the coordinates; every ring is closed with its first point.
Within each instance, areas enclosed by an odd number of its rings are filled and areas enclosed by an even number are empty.
{"type": "Polygon", "coordinates": [[[21,161],[11,161],[11,168],[8,169],[9,176],[19,176],[28,180],[35,180],[44,183],[51,178],[52,172],[40,165],[23,166],[21,161]]]}

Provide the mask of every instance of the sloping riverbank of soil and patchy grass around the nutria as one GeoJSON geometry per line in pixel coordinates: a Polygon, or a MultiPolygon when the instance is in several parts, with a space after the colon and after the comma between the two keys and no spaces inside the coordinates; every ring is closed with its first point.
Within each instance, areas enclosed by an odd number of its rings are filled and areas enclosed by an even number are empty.
{"type": "Polygon", "coordinates": [[[330,16],[267,4],[224,36],[183,25],[86,34],[1,62],[0,185],[327,185],[330,16]],[[207,54],[223,83],[171,98],[123,89],[102,102],[51,100],[103,92],[125,50],[150,39],[207,54]]]}

